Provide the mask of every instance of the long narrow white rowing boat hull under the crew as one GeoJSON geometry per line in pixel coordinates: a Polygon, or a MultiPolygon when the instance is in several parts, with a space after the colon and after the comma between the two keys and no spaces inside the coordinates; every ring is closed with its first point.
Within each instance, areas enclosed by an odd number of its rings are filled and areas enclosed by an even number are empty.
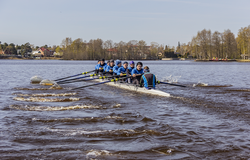
{"type": "MultiPolygon", "coordinates": [[[[102,79],[95,79],[94,81],[103,82],[102,79]]],[[[170,97],[170,94],[167,92],[163,92],[163,91],[160,91],[157,89],[146,89],[145,87],[138,87],[138,86],[135,86],[135,85],[129,84],[129,83],[121,83],[118,81],[118,82],[108,82],[105,84],[110,85],[110,86],[114,86],[114,87],[118,87],[118,88],[122,88],[122,89],[126,89],[126,90],[130,90],[130,91],[139,92],[139,93],[146,93],[146,94],[151,94],[151,95],[170,97]]]]}

